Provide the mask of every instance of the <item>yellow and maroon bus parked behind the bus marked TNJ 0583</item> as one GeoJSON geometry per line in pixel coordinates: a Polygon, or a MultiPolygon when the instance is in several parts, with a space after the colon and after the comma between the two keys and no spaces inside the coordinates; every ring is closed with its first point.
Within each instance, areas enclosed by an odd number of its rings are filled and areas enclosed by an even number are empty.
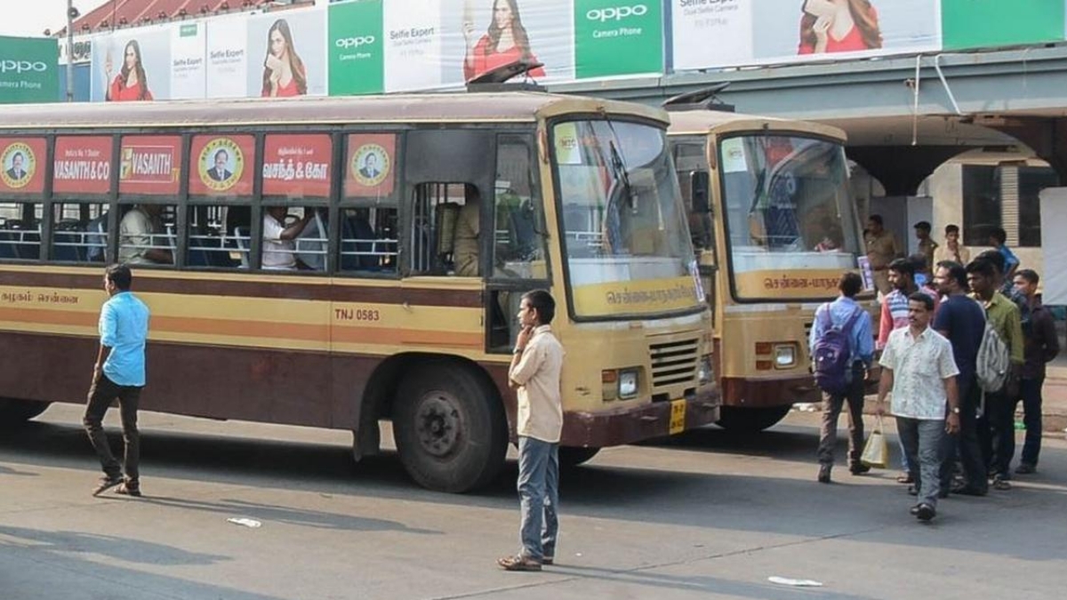
{"type": "MultiPolygon", "coordinates": [[[[819,401],[815,309],[865,262],[845,133],[817,123],[668,101],[669,140],[713,311],[719,425],[766,429],[819,401]]],[[[858,300],[874,311],[870,270],[858,300]]],[[[877,322],[877,321],[876,321],[877,322]]]]}

